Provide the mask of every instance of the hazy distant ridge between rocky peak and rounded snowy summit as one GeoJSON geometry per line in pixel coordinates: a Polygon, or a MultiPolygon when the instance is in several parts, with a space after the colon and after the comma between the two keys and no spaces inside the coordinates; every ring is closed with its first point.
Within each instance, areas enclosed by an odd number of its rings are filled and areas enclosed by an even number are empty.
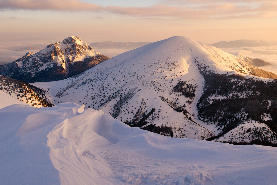
{"type": "Polygon", "coordinates": [[[112,42],[112,41],[105,41],[105,42],[96,42],[91,43],[90,46],[94,49],[136,49],[138,47],[145,46],[150,44],[151,42],[112,42]]]}

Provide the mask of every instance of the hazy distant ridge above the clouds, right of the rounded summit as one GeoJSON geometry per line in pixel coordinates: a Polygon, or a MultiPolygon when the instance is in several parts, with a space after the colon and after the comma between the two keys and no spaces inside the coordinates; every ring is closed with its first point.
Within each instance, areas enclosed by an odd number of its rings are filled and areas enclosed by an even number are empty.
{"type": "Polygon", "coordinates": [[[270,46],[268,43],[262,40],[235,40],[235,41],[220,41],[218,43],[211,44],[218,48],[237,48],[237,47],[259,47],[270,46]]]}

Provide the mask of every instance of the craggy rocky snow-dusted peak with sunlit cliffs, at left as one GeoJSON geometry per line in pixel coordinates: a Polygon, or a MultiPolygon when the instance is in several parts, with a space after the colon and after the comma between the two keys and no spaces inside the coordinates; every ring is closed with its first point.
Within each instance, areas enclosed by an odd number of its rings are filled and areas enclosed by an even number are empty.
{"type": "Polygon", "coordinates": [[[28,52],[0,66],[0,75],[25,82],[62,80],[107,59],[109,57],[99,54],[79,37],[70,36],[62,43],[49,44],[35,54],[28,52]]]}

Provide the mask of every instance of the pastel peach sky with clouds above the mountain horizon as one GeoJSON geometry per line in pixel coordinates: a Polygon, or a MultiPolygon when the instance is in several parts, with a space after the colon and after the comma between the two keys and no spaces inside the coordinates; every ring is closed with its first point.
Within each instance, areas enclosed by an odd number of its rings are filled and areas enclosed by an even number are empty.
{"type": "Polygon", "coordinates": [[[0,40],[277,40],[276,0],[0,0],[0,40]]]}

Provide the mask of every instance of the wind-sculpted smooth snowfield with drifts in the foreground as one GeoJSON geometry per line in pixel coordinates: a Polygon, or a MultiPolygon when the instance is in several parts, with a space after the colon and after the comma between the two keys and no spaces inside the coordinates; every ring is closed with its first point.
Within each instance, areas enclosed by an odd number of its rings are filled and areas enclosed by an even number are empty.
{"type": "Polygon", "coordinates": [[[169,138],[84,105],[0,109],[1,184],[276,184],[277,149],[169,138]]]}

